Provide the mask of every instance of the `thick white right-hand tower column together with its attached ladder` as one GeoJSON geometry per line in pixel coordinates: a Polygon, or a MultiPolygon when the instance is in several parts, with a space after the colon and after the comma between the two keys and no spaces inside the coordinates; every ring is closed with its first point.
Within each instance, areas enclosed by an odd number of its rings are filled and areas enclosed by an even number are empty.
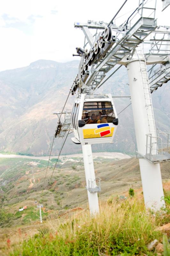
{"type": "MultiPolygon", "coordinates": [[[[151,91],[146,62],[142,52],[137,52],[127,62],[129,89],[135,124],[137,150],[143,156],[146,153],[146,134],[151,134],[156,141],[156,127],[151,100],[151,91]]],[[[152,155],[155,155],[152,148],[152,155]]],[[[145,158],[139,158],[145,206],[152,210],[160,210],[165,206],[160,164],[152,164],[145,158]]]]}

